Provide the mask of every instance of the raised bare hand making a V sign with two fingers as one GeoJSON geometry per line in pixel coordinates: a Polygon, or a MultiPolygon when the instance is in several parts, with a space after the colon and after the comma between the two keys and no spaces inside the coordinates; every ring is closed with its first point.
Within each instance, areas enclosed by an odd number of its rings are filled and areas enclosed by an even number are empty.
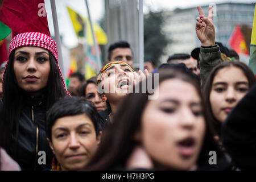
{"type": "Polygon", "coordinates": [[[201,42],[201,46],[215,46],[215,28],[213,25],[213,9],[209,7],[208,17],[205,17],[204,11],[197,6],[199,17],[196,18],[196,35],[201,42]]]}

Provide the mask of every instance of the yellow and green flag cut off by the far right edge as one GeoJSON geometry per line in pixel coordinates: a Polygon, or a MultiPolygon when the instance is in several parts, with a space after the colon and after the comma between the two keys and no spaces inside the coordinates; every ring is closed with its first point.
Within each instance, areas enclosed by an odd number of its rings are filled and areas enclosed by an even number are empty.
{"type": "MultiPolygon", "coordinates": [[[[256,10],[256,6],[255,6],[256,10]]],[[[253,30],[251,31],[251,47],[250,47],[250,60],[249,60],[249,67],[253,71],[254,75],[256,76],[256,14],[254,10],[254,18],[253,18],[253,30]]]]}

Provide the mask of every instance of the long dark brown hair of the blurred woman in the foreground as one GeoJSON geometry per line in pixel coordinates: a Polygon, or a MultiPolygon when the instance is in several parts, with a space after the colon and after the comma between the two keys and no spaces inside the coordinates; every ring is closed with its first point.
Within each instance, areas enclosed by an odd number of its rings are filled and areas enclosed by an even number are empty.
{"type": "MultiPolygon", "coordinates": [[[[162,68],[159,69],[158,73],[159,85],[167,79],[177,78],[192,84],[196,88],[199,97],[202,98],[200,84],[195,78],[192,78],[186,73],[178,72],[174,68],[162,68]]],[[[154,77],[152,76],[152,89],[155,88],[156,85],[154,85],[154,77]]],[[[134,134],[141,128],[142,114],[147,105],[148,96],[151,95],[148,93],[148,90],[146,93],[142,93],[142,82],[139,83],[139,89],[139,93],[130,93],[118,107],[117,114],[114,115],[113,125],[106,126],[101,144],[92,160],[88,163],[87,169],[124,169],[127,158],[130,156],[136,144],[138,144],[134,140],[134,134]]],[[[208,138],[205,141],[208,143],[204,142],[203,144],[199,163],[205,162],[205,157],[208,156],[209,152],[209,148],[207,147],[211,146],[214,148],[214,146],[217,146],[212,137],[209,137],[208,124],[206,133],[208,138]]],[[[206,160],[207,162],[208,158],[206,160]]]]}

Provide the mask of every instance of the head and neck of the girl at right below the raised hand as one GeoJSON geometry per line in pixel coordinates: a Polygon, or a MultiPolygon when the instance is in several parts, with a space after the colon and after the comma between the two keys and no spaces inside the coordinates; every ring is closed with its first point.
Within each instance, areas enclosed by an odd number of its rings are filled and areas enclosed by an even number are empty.
{"type": "Polygon", "coordinates": [[[220,142],[221,124],[255,82],[253,72],[238,61],[228,61],[213,68],[203,90],[205,111],[213,125],[214,138],[220,142]]]}

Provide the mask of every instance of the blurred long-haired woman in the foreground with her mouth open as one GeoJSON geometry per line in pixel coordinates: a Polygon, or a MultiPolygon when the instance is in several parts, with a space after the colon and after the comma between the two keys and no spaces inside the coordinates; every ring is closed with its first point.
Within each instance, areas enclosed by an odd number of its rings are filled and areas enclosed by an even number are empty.
{"type": "Polygon", "coordinates": [[[87,169],[196,170],[208,163],[210,150],[218,151],[212,138],[205,138],[199,82],[174,68],[158,73],[153,94],[142,93],[142,81],[140,92],[119,105],[87,169]],[[155,100],[148,99],[154,95],[155,100]]]}

